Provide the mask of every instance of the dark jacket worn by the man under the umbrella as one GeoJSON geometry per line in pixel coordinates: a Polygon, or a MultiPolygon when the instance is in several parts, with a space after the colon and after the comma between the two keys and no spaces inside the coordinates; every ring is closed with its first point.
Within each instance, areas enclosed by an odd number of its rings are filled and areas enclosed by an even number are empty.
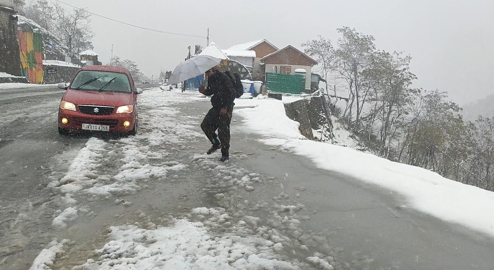
{"type": "Polygon", "coordinates": [[[231,110],[235,105],[237,92],[230,77],[218,71],[212,77],[207,78],[206,96],[210,95],[212,95],[211,105],[213,108],[231,110]]]}

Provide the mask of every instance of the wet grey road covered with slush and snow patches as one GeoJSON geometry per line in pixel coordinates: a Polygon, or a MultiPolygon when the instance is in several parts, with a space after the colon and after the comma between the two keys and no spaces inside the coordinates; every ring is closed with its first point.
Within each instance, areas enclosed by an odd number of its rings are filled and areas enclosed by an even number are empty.
{"type": "Polygon", "coordinates": [[[0,269],[493,269],[488,236],[263,145],[239,114],[231,161],[203,154],[197,93],[146,90],[120,139],[58,136],[59,98],[0,108],[0,269]]]}

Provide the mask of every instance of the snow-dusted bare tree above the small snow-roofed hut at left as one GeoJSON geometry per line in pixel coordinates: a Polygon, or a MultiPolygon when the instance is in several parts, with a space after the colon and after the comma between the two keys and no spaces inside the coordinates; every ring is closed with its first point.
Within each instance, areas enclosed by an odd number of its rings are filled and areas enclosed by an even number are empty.
{"type": "Polygon", "coordinates": [[[92,49],[92,38],[94,32],[91,29],[91,14],[87,8],[76,8],[70,12],[63,8],[60,3],[52,3],[56,13],[57,34],[65,41],[68,53],[77,56],[83,50],[92,49]]]}

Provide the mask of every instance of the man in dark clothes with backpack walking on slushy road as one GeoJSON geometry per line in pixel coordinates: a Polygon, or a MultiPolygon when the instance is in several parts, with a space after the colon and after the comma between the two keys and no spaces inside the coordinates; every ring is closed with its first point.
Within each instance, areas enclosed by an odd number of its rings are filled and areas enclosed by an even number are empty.
{"type": "Polygon", "coordinates": [[[230,149],[230,121],[232,120],[233,106],[235,105],[236,90],[228,75],[219,72],[216,68],[206,71],[207,88],[199,87],[199,92],[211,97],[213,108],[207,112],[201,123],[201,128],[206,134],[212,147],[207,154],[213,154],[221,149],[221,162],[229,159],[230,149]],[[216,136],[216,129],[218,136],[216,136]],[[219,140],[218,140],[219,137],[219,140]]]}

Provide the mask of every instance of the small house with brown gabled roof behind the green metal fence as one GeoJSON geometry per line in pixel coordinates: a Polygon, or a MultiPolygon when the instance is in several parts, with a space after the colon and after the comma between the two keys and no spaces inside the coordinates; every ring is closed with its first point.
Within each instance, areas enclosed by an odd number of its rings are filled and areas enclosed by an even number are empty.
{"type": "Polygon", "coordinates": [[[292,45],[270,53],[259,61],[264,64],[266,73],[295,74],[295,70],[305,70],[305,89],[311,88],[312,67],[318,64],[292,45]]]}

